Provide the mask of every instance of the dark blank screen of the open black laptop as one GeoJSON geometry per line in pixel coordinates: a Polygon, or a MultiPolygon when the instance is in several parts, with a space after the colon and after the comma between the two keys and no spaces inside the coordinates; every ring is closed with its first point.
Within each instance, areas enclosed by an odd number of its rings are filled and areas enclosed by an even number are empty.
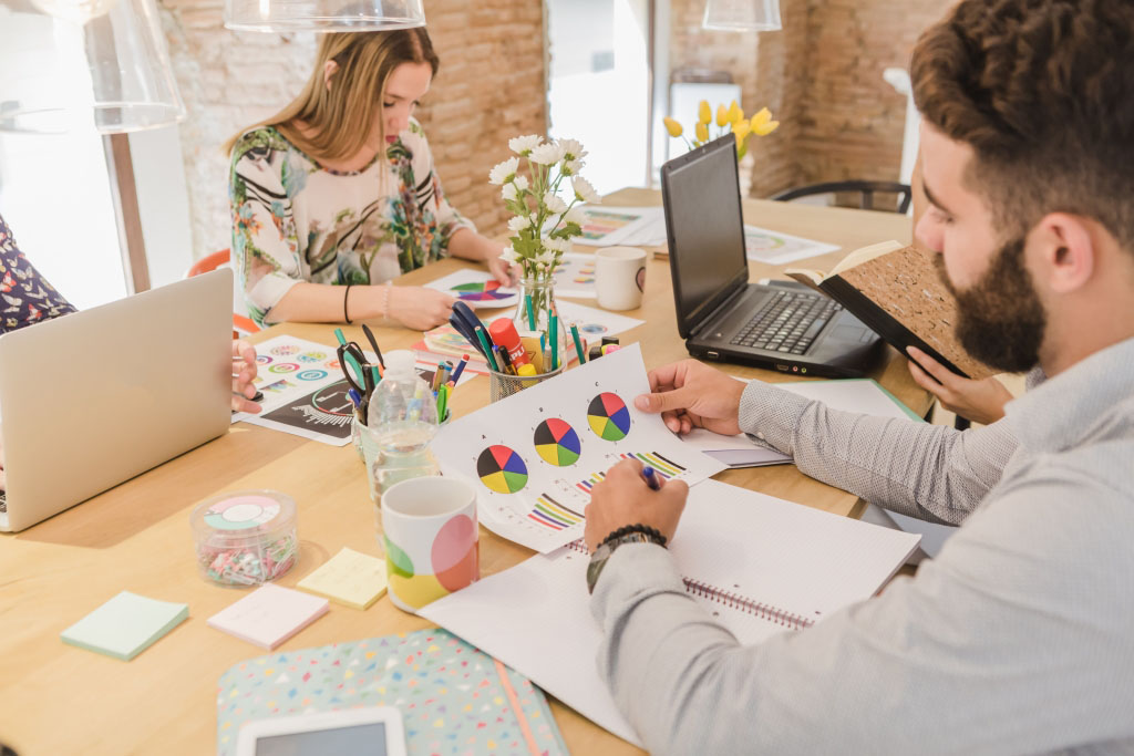
{"type": "Polygon", "coordinates": [[[669,266],[682,337],[748,281],[744,218],[729,134],[661,169],[669,266]]]}

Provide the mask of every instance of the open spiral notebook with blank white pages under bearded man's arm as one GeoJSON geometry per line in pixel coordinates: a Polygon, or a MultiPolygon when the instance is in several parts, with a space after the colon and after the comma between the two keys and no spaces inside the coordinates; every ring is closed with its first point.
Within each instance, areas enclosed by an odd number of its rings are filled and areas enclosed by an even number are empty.
{"type": "MultiPolygon", "coordinates": [[[[869,598],[919,536],[717,481],[689,490],[670,551],[685,589],[746,645],[806,631],[869,598]]],[[[595,669],[601,636],[581,543],[484,578],[420,614],[479,646],[595,724],[641,746],[595,669]]]]}

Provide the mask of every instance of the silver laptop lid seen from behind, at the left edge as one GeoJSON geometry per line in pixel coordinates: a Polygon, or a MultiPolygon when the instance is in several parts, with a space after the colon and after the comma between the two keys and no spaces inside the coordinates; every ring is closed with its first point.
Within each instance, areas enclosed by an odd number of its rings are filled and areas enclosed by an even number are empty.
{"type": "Polygon", "coordinates": [[[22,530],[226,432],[232,271],[0,335],[0,530],[22,530]]]}

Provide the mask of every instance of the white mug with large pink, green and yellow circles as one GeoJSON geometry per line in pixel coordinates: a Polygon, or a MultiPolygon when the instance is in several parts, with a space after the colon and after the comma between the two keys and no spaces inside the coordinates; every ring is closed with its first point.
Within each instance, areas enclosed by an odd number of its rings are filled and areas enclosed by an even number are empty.
{"type": "Polygon", "coordinates": [[[382,494],[390,601],[414,612],[480,578],[476,492],[440,476],[395,483],[382,494]]]}

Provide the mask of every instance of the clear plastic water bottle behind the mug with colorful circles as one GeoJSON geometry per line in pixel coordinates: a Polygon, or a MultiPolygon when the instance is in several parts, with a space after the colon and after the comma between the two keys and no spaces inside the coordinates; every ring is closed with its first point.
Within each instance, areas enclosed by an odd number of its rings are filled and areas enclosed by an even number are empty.
{"type": "Polygon", "coordinates": [[[412,351],[386,354],[386,376],[371,394],[365,432],[375,448],[370,469],[375,503],[399,481],[441,474],[429,448],[437,435],[437,401],[414,371],[412,351]]]}

